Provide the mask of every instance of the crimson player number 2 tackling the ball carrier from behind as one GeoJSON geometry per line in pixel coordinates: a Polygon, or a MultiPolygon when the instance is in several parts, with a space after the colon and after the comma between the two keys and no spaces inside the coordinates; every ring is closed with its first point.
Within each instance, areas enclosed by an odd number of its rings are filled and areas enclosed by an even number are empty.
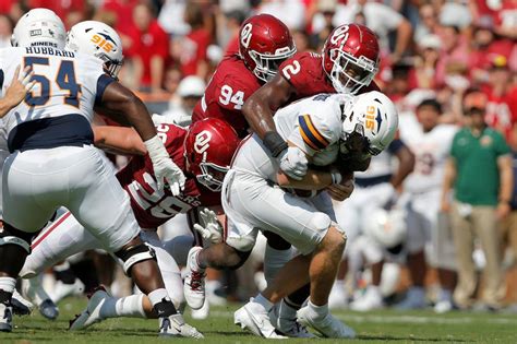
{"type": "MultiPolygon", "coordinates": [[[[245,37],[241,32],[241,51],[245,51],[242,48],[242,39],[245,37]]],[[[253,37],[251,36],[251,39],[253,37]]],[[[244,106],[240,106],[251,129],[264,139],[265,146],[273,155],[282,161],[280,168],[289,176],[300,178],[306,169],[308,162],[300,150],[296,147],[287,150],[287,143],[275,132],[273,112],[296,99],[318,93],[361,93],[377,90],[372,80],[378,70],[378,54],[375,34],[368,27],[357,24],[341,25],[327,38],[323,55],[301,52],[284,61],[278,69],[280,72],[253,93],[244,106]]],[[[358,164],[356,169],[364,170],[369,163],[369,158],[356,162],[354,164],[358,164]]],[[[339,201],[348,197],[346,188],[341,189],[341,186],[337,185],[329,187],[328,192],[339,201]]],[[[272,280],[275,266],[281,266],[289,260],[291,246],[269,232],[265,232],[264,235],[267,237],[265,275],[266,280],[272,280]]],[[[195,270],[199,269],[195,261],[202,260],[204,261],[202,264],[211,266],[237,269],[247,259],[247,254],[227,246],[208,248],[202,252],[202,257],[199,256],[200,252],[201,249],[193,248],[189,254],[189,261],[194,263],[188,264],[184,284],[187,301],[194,309],[201,307],[204,299],[204,269],[195,270]],[[191,278],[194,278],[195,288],[190,288],[191,278]]],[[[289,305],[281,308],[286,312],[282,319],[293,320],[297,308],[306,296],[308,287],[300,290],[299,295],[293,295],[288,301],[289,305]]],[[[281,331],[297,336],[298,329],[293,321],[287,321],[281,331]]]]}

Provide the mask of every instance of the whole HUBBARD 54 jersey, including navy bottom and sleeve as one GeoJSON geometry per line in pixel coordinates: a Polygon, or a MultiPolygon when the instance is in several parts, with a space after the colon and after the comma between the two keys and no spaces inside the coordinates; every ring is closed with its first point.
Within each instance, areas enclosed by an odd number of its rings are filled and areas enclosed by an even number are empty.
{"type": "Polygon", "coordinates": [[[36,85],[4,118],[10,151],[92,143],[93,107],[112,81],[103,61],[50,47],[0,49],[2,94],[17,66],[33,69],[36,85]]]}

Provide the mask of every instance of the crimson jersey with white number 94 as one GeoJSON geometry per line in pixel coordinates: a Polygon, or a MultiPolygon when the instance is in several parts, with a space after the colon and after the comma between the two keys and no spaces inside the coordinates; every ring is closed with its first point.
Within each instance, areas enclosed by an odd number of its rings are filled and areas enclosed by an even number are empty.
{"type": "Polygon", "coordinates": [[[194,107],[192,121],[203,118],[220,118],[237,131],[239,138],[248,135],[248,122],[242,105],[261,87],[258,79],[238,55],[226,56],[217,67],[203,98],[194,107]]]}

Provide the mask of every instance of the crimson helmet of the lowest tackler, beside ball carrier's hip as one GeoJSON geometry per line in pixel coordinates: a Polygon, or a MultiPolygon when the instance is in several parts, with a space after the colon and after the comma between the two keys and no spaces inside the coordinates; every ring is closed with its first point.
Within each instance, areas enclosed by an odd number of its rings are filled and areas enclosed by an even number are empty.
{"type": "Polygon", "coordinates": [[[187,170],[208,190],[220,191],[238,145],[237,132],[221,119],[192,123],[183,142],[187,170]]]}

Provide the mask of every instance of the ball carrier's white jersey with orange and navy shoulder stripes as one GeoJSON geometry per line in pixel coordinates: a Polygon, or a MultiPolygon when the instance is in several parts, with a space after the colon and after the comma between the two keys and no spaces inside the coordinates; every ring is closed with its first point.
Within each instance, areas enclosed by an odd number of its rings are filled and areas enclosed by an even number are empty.
{"type": "MultiPolygon", "coordinates": [[[[279,109],[274,117],[281,138],[300,147],[309,162],[326,166],[335,162],[341,135],[341,104],[346,95],[320,94],[279,109]]],[[[235,156],[232,168],[247,170],[276,181],[277,159],[252,134],[235,156]]]]}

